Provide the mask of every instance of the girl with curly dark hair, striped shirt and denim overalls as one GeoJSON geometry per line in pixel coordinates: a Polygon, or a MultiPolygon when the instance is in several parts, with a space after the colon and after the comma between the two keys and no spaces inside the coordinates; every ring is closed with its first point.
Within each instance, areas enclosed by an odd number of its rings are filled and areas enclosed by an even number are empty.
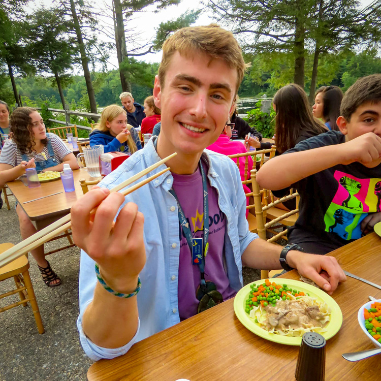
{"type": "MultiPolygon", "coordinates": [[[[0,187],[7,181],[26,177],[27,168],[37,171],[62,171],[63,164],[77,169],[72,151],[55,134],[47,134],[45,124],[36,109],[19,107],[11,116],[11,139],[7,140],[0,153],[0,187]]],[[[20,204],[16,205],[20,231],[23,239],[36,233],[36,228],[20,204]]],[[[41,271],[45,284],[57,286],[61,280],[45,259],[44,246],[31,250],[41,271]]]]}

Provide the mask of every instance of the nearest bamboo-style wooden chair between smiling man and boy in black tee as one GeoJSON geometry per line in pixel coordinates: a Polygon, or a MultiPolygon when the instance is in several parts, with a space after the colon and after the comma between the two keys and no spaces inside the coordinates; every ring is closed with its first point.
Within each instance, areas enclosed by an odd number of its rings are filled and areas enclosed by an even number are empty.
{"type": "MultiPolygon", "coordinates": [[[[252,196],[254,198],[255,203],[255,210],[256,210],[256,216],[257,216],[257,232],[261,239],[266,240],[267,242],[276,242],[278,239],[283,238],[287,239],[285,235],[287,235],[287,229],[284,229],[280,233],[274,232],[270,228],[277,223],[283,224],[283,220],[290,217],[291,215],[299,215],[299,193],[298,192],[290,192],[290,195],[281,197],[280,199],[277,199],[276,201],[268,203],[268,190],[267,189],[260,189],[260,186],[257,182],[257,170],[253,169],[251,171],[251,184],[252,184],[252,196]],[[277,204],[280,204],[281,202],[296,199],[296,208],[294,210],[290,210],[289,212],[286,212],[283,210],[283,214],[271,219],[270,221],[266,220],[268,219],[267,212],[272,207],[276,206],[277,204]],[[285,212],[285,213],[284,213],[285,212]],[[271,233],[275,234],[270,239],[267,239],[266,237],[266,231],[270,231],[271,233]]],[[[280,270],[282,271],[282,270],[280,270]]],[[[269,277],[268,270],[261,270],[261,279],[265,279],[269,277]]]]}

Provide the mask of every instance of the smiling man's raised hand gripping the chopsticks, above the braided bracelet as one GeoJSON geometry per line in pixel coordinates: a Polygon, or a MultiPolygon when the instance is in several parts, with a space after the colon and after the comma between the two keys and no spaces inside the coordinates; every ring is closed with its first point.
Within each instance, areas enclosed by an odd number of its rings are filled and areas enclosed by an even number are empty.
{"type": "Polygon", "coordinates": [[[93,187],[71,210],[73,238],[77,246],[99,265],[113,290],[128,294],[136,289],[146,261],[143,241],[144,216],[134,203],[126,204],[114,218],[124,196],[93,187]],[[98,207],[98,208],[97,208],[98,207]],[[90,212],[97,208],[95,213],[90,212]]]}

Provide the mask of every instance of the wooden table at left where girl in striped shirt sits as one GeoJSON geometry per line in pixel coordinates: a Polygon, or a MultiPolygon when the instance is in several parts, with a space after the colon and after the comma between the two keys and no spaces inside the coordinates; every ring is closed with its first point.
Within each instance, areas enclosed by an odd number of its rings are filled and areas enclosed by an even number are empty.
{"type": "Polygon", "coordinates": [[[72,205],[79,197],[83,196],[82,188],[79,183],[80,179],[94,180],[84,169],[74,170],[73,177],[75,191],[69,193],[66,193],[63,189],[60,179],[41,182],[41,186],[37,188],[28,188],[25,186],[26,179],[23,179],[24,182],[21,180],[10,181],[7,185],[30,220],[36,225],[36,228],[41,230],[63,215],[68,214],[72,205]],[[57,192],[62,193],[24,204],[26,201],[52,195],[57,192]]]}

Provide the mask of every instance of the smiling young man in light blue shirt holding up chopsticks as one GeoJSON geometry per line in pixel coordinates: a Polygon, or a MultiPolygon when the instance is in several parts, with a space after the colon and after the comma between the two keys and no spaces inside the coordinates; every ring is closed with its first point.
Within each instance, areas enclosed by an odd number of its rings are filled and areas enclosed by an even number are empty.
{"type": "MultiPolygon", "coordinates": [[[[73,206],[73,236],[83,249],[77,324],[92,359],[120,356],[207,304],[232,298],[242,287],[242,263],[279,268],[281,247],[248,231],[235,163],[204,151],[225,128],[245,67],[229,31],[178,30],[163,45],[153,88],[160,135],[73,206]],[[126,198],[109,193],[174,152],[170,172],[126,198]]],[[[286,261],[329,293],[345,280],[332,257],[291,250],[286,261]]]]}

